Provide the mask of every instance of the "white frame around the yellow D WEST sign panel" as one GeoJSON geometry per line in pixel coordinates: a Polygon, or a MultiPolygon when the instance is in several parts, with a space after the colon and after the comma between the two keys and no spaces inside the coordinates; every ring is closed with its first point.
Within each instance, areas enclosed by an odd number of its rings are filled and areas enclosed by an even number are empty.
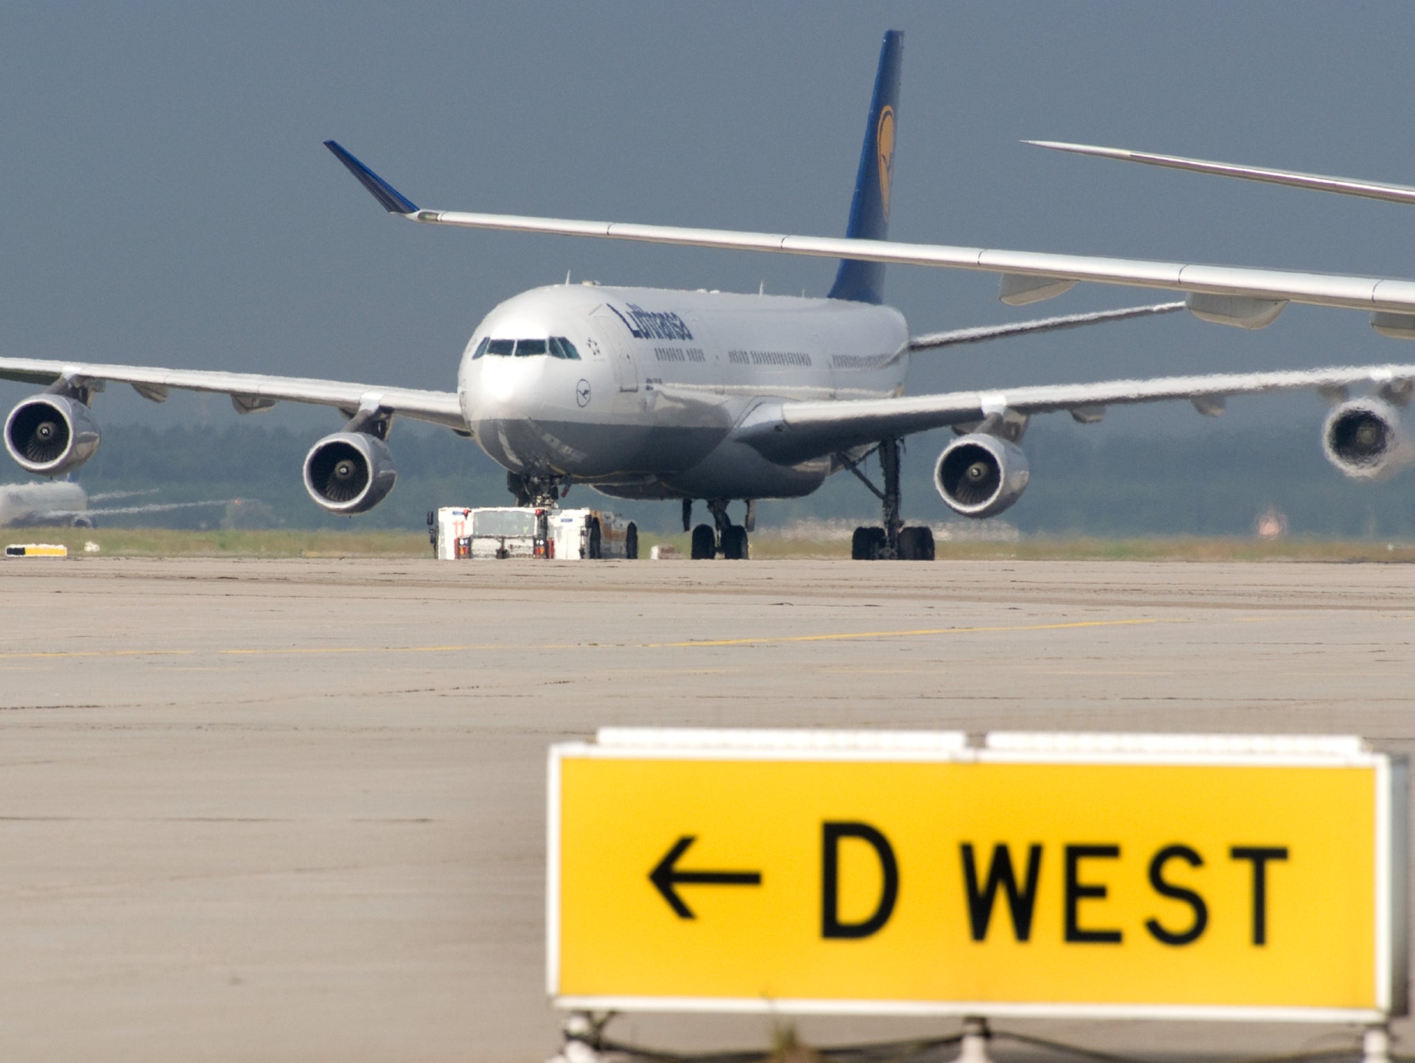
{"type": "Polygon", "coordinates": [[[990,732],[982,746],[971,746],[964,732],[601,728],[594,742],[550,746],[546,793],[546,992],[559,1009],[1367,1025],[1408,1013],[1409,769],[1405,757],[1373,752],[1358,737],[990,732]],[[560,770],[573,759],[1371,769],[1375,1008],[563,995],[559,992],[560,770]]]}

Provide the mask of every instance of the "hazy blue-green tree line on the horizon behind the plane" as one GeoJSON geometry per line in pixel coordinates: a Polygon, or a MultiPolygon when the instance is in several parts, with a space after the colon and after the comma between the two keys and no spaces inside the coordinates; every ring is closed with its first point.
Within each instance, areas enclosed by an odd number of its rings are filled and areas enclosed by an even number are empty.
{"type": "MultiPolygon", "coordinates": [[[[439,505],[505,505],[505,473],[470,440],[450,432],[398,425],[389,444],[398,487],[371,512],[334,517],[310,501],[301,483],[306,452],[324,435],[238,423],[222,429],[151,429],[115,425],[98,454],[81,470],[91,493],[160,488],[154,501],[243,498],[248,521],[287,528],[422,528],[439,505]]],[[[1380,484],[1340,476],[1322,456],[1312,426],[1183,436],[1102,435],[1039,422],[1024,449],[1032,483],[1000,519],[1023,532],[1084,535],[1248,535],[1276,510],[1290,534],[1381,538],[1415,535],[1415,469],[1380,484]]],[[[932,487],[932,460],[945,433],[911,439],[904,460],[906,512],[913,521],[954,514],[932,487]]],[[[13,478],[21,478],[14,470],[13,478]]],[[[866,471],[877,477],[870,460],[866,471]]],[[[678,527],[675,502],[621,502],[574,487],[567,504],[627,512],[645,529],[678,527]]],[[[239,511],[238,511],[239,514],[239,511]]],[[[705,515],[698,507],[696,518],[705,515]]],[[[798,518],[879,519],[877,502],[848,473],[816,494],[758,505],[764,531],[798,518]]],[[[112,524],[160,522],[215,527],[232,519],[222,510],[191,510],[112,524]]],[[[236,519],[241,519],[236,517],[236,519]]]]}

